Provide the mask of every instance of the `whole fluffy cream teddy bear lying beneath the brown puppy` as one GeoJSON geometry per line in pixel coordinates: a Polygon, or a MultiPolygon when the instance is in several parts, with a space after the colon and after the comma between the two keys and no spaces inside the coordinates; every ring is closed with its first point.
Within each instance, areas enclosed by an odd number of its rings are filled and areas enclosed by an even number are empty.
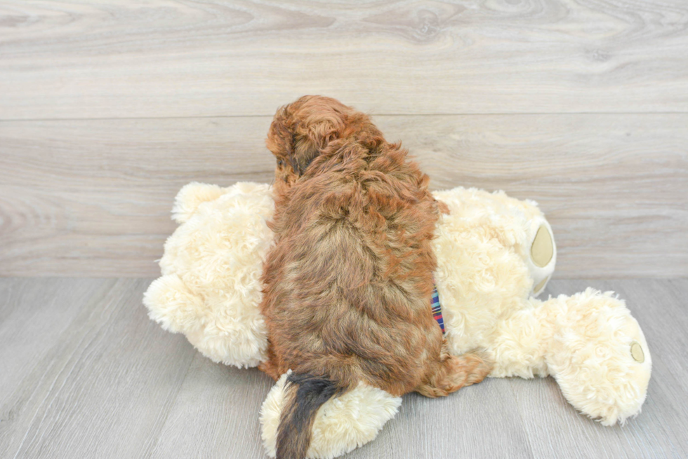
{"type": "MultiPolygon", "coordinates": [[[[651,358],[623,301],[590,288],[547,301],[535,298],[557,257],[552,230],[536,203],[477,189],[434,194],[450,210],[433,242],[440,317],[451,351],[484,348],[495,362],[492,377],[553,376],[569,403],[603,425],[639,413],[651,358]]],[[[258,303],[272,211],[265,184],[192,183],[181,189],[173,208],[180,226],[165,244],[162,277],[144,297],[150,317],[185,334],[215,362],[263,362],[267,336],[258,303]]],[[[285,379],[261,409],[270,456],[285,379]]],[[[333,458],[371,441],[400,404],[399,397],[363,384],[329,400],[317,414],[308,457],[333,458]]]]}

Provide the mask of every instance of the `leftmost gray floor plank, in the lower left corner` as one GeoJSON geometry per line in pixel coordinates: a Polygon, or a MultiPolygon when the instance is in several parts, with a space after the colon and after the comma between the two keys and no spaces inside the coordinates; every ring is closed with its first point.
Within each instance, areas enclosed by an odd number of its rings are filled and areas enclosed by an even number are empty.
{"type": "Polygon", "coordinates": [[[55,380],[53,348],[113,280],[0,279],[0,457],[12,458],[55,380]],[[52,376],[52,381],[51,377],[52,376]]]}

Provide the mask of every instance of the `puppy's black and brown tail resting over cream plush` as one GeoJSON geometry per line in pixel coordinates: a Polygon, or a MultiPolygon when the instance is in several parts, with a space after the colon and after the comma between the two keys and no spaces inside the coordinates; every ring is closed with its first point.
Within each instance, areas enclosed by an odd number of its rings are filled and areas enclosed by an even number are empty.
{"type": "Polygon", "coordinates": [[[287,376],[284,387],[286,402],[279,416],[276,459],[305,459],[315,415],[339,390],[326,378],[294,373],[287,376]]]}

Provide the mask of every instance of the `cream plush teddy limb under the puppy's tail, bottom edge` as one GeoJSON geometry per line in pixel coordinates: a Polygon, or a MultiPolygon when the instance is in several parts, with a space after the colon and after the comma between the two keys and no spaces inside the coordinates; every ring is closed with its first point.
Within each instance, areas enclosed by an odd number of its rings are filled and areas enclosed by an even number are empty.
{"type": "MultiPolygon", "coordinates": [[[[279,417],[284,407],[286,374],[267,394],[260,409],[263,444],[274,458],[279,417]]],[[[360,383],[356,388],[325,402],[315,417],[307,458],[336,458],[363,446],[375,437],[385,423],[394,418],[401,397],[360,383]]]]}

